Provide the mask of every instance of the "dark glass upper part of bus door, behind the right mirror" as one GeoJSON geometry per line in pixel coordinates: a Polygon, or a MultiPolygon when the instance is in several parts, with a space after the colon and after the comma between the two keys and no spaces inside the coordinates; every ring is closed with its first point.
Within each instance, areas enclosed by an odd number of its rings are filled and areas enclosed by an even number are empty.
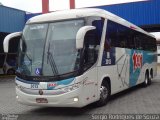
{"type": "Polygon", "coordinates": [[[101,41],[101,36],[103,31],[103,24],[104,24],[103,18],[95,19],[94,17],[89,21],[92,21],[91,24],[92,26],[95,26],[96,29],[88,31],[84,38],[85,69],[92,66],[98,58],[98,51],[100,47],[100,41],[101,41]]]}

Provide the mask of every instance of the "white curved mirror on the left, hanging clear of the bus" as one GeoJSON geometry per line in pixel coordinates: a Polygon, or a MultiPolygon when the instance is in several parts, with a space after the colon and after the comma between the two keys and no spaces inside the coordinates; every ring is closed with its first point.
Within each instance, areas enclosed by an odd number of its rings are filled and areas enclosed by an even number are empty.
{"type": "Polygon", "coordinates": [[[11,34],[7,35],[4,38],[3,49],[4,49],[5,53],[8,53],[8,51],[9,51],[9,41],[12,40],[15,37],[19,37],[21,35],[22,35],[22,32],[14,32],[14,33],[11,33],[11,34]]]}

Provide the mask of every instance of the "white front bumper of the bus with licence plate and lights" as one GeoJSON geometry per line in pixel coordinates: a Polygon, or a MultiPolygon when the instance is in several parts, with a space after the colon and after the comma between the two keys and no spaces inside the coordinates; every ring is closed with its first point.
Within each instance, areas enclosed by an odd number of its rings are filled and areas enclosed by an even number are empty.
{"type": "Polygon", "coordinates": [[[60,95],[32,95],[24,93],[16,87],[16,94],[19,103],[31,106],[83,107],[86,105],[80,97],[80,88],[60,95]]]}

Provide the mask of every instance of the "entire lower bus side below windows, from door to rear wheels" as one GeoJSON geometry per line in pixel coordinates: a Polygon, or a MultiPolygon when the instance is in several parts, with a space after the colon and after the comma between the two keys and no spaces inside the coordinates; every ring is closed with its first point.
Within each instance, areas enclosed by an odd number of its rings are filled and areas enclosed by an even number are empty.
{"type": "Polygon", "coordinates": [[[105,77],[110,78],[111,94],[144,82],[147,69],[149,72],[153,69],[153,74],[156,75],[156,56],[153,52],[126,48],[111,48],[108,52],[103,53],[98,79],[100,87],[105,77]],[[112,57],[107,57],[107,54],[112,57]]]}

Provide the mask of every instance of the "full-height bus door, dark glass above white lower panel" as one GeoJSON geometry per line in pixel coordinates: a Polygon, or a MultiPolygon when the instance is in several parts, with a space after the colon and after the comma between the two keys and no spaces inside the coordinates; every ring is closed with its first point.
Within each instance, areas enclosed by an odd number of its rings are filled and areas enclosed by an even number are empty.
{"type": "Polygon", "coordinates": [[[84,94],[86,102],[93,102],[97,99],[98,88],[98,68],[97,60],[100,49],[100,41],[102,36],[104,19],[92,19],[92,26],[96,29],[90,30],[84,37],[84,59],[83,59],[83,72],[84,72],[84,94]]]}

